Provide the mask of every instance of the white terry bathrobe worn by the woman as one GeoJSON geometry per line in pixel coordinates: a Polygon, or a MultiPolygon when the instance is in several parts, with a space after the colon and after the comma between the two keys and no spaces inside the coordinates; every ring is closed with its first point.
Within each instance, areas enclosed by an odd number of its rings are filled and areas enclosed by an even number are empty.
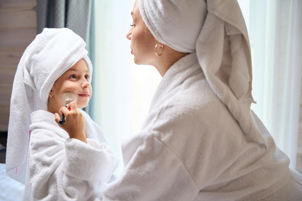
{"type": "Polygon", "coordinates": [[[289,159],[251,113],[267,149],[214,94],[196,53],[182,57],[160,82],[141,131],[122,144],[125,170],[106,185],[103,200],[254,201],[282,191],[286,200],[302,197],[280,190],[294,177],[289,159]]]}

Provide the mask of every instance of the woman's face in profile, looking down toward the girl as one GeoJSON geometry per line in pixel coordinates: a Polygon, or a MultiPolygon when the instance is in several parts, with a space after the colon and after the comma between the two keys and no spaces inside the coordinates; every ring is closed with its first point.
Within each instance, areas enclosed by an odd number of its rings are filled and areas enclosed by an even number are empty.
{"type": "Polygon", "coordinates": [[[157,40],[144,23],[137,1],[134,3],[131,16],[133,21],[126,37],[131,40],[130,48],[131,54],[134,55],[134,62],[136,64],[152,65],[152,60],[156,57],[154,47],[157,40]]]}

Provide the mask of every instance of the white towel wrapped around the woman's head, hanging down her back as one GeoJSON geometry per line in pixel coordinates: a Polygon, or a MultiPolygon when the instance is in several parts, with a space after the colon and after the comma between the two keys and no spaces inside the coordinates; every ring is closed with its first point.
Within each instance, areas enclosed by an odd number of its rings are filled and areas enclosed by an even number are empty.
{"type": "Polygon", "coordinates": [[[159,42],[179,52],[196,52],[211,89],[248,138],[267,148],[250,114],[254,102],[251,53],[237,0],[138,0],[138,3],[143,21],[159,42]],[[228,49],[224,50],[224,46],[228,49]]]}

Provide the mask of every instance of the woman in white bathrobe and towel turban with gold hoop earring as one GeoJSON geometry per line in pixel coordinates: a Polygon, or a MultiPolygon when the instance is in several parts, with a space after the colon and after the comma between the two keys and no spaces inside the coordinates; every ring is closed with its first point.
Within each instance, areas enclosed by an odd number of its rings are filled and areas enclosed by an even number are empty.
{"type": "Polygon", "coordinates": [[[301,175],[250,110],[237,1],[138,0],[131,15],[134,62],[163,79],[103,200],[301,200],[301,175]]]}

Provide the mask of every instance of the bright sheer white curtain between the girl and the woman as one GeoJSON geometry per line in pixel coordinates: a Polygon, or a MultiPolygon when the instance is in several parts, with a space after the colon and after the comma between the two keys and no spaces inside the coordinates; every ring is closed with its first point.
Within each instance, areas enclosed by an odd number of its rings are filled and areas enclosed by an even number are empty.
{"type": "Polygon", "coordinates": [[[124,169],[121,143],[139,131],[161,79],[154,67],[133,62],[126,33],[134,2],[95,1],[96,61],[90,115],[120,159],[116,174],[124,169]]]}

